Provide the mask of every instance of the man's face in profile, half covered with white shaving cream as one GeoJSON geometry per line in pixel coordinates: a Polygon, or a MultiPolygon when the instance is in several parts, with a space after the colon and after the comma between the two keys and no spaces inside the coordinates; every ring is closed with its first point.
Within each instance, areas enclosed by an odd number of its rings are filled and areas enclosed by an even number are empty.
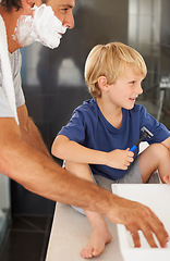
{"type": "Polygon", "coordinates": [[[36,1],[32,15],[21,15],[14,32],[21,47],[39,41],[49,48],[60,45],[66,28],[74,27],[74,0],[49,0],[46,4],[36,1]]]}

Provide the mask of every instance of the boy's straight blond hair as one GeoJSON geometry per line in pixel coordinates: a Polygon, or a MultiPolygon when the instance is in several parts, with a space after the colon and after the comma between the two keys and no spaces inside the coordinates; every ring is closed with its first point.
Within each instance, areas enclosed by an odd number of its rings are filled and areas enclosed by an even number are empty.
{"type": "Polygon", "coordinates": [[[136,74],[144,78],[147,69],[142,55],[133,48],[121,42],[110,42],[98,45],[89,52],[85,64],[85,82],[93,97],[100,97],[101,91],[98,86],[100,76],[107,77],[109,85],[113,84],[118,77],[125,76],[126,65],[131,65],[136,74]]]}

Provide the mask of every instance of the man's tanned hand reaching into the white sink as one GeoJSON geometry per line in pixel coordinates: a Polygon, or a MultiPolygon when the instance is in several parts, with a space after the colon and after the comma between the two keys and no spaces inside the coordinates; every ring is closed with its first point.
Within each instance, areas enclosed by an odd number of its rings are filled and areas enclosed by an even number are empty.
{"type": "Polygon", "coordinates": [[[116,209],[107,216],[110,221],[125,225],[131,233],[134,247],[141,247],[138,231],[142,231],[149,246],[157,248],[154,234],[160,246],[166,247],[169,235],[156,214],[146,206],[114,196],[116,209]],[[117,217],[117,219],[116,219],[117,217]]]}

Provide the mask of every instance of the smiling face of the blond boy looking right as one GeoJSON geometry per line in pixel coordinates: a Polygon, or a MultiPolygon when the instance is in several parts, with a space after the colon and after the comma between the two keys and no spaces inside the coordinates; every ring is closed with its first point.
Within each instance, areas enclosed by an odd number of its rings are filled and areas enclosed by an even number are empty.
{"type": "Polygon", "coordinates": [[[114,84],[109,86],[111,102],[118,108],[133,109],[136,98],[143,94],[141,85],[143,79],[144,77],[141,74],[136,74],[129,66],[125,76],[119,77],[114,84]]]}

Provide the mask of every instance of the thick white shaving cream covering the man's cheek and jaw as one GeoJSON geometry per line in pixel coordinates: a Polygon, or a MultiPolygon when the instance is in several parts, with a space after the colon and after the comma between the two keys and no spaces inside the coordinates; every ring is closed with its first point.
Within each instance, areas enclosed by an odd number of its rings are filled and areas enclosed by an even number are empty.
{"type": "Polygon", "coordinates": [[[34,7],[34,14],[21,15],[14,30],[14,39],[24,47],[39,41],[51,49],[60,45],[62,34],[66,32],[61,21],[54,15],[51,7],[45,3],[34,7]]]}

